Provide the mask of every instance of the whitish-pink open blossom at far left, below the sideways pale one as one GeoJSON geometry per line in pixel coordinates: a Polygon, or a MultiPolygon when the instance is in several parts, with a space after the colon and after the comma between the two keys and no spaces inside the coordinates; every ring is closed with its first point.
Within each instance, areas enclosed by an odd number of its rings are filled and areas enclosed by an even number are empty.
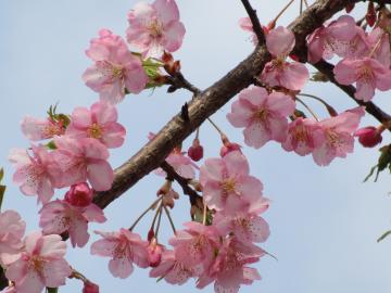
{"type": "Polygon", "coordinates": [[[38,202],[47,203],[54,194],[54,178],[60,169],[43,145],[31,145],[33,155],[26,150],[12,150],[9,160],[16,167],[13,181],[21,184],[25,195],[38,195],[38,202]]]}

